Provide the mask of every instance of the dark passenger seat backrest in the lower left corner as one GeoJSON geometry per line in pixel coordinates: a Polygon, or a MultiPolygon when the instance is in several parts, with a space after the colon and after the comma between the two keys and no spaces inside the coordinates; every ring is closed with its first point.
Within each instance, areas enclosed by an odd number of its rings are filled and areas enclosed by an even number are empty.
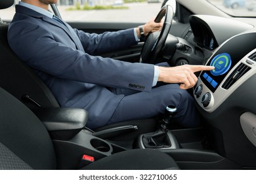
{"type": "Polygon", "coordinates": [[[56,169],[53,143],[39,119],[0,88],[0,169],[56,169]]]}

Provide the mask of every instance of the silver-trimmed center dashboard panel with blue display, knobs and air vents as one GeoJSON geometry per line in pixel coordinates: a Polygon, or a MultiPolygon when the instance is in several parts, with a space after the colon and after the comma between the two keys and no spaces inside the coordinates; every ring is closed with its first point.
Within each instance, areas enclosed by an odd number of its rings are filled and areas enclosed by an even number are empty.
{"type": "Polygon", "coordinates": [[[202,71],[194,88],[200,107],[213,112],[226,98],[254,75],[256,69],[256,33],[244,33],[224,42],[207,61],[212,71],[202,71]]]}

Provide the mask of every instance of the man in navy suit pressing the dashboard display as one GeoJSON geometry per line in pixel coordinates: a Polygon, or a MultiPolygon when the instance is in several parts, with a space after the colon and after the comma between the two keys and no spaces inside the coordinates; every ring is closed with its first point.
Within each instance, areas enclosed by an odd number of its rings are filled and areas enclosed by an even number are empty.
{"type": "MultiPolygon", "coordinates": [[[[61,107],[85,108],[92,129],[125,120],[150,118],[175,105],[184,127],[199,125],[194,101],[186,92],[203,65],[158,67],[97,56],[138,43],[139,27],[100,35],[72,29],[48,11],[58,0],[22,0],[9,26],[14,52],[35,69],[61,107]],[[55,20],[54,20],[55,19],[55,20]],[[157,82],[169,84],[154,87],[157,82]],[[180,85],[175,83],[181,83],[180,85]]],[[[160,29],[150,21],[144,33],[160,29]]]]}

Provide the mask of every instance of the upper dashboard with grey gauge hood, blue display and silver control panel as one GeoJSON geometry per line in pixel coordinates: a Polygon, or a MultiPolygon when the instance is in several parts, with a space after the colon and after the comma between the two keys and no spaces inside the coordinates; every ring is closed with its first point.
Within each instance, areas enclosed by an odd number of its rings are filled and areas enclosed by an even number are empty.
{"type": "Polygon", "coordinates": [[[200,107],[213,112],[253,72],[256,32],[253,25],[205,15],[190,16],[190,26],[194,45],[211,53],[205,64],[215,67],[200,74],[194,97],[200,107]]]}

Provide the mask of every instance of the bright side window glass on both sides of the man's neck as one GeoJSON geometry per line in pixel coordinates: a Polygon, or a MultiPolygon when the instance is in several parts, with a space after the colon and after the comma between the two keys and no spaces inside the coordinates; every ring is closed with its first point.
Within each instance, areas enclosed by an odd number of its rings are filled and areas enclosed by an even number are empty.
{"type": "MultiPolygon", "coordinates": [[[[20,0],[15,0],[17,4],[20,0]]],[[[67,22],[148,22],[158,14],[163,0],[58,0],[58,10],[67,22]]],[[[3,10],[11,21],[14,6],[3,10]]]]}

